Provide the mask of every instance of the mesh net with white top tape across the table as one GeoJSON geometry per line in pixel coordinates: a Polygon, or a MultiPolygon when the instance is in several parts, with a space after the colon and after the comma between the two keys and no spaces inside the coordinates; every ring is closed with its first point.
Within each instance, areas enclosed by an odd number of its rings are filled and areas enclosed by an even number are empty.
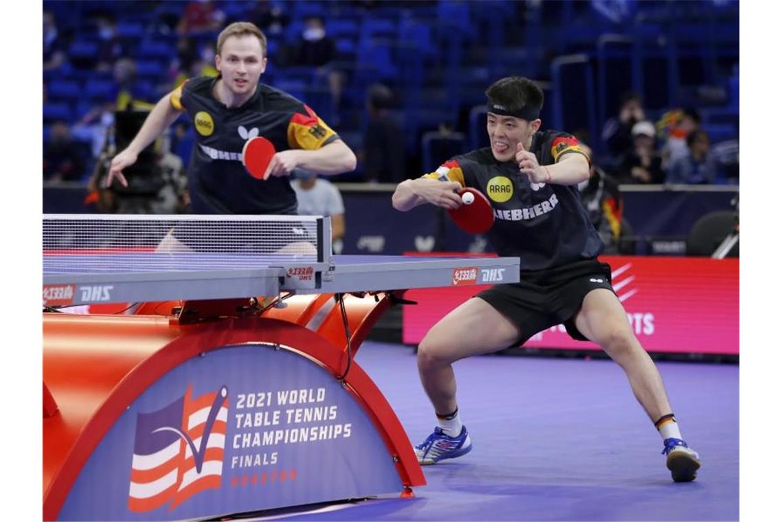
{"type": "Polygon", "coordinates": [[[201,271],[314,263],[312,216],[67,215],[43,218],[45,274],[201,271]]]}

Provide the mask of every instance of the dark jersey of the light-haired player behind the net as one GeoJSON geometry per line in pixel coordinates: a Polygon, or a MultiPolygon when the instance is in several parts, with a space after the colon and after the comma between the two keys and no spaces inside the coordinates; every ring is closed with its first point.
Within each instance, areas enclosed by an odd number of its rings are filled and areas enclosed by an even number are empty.
{"type": "Polygon", "coordinates": [[[287,176],[253,178],[242,164],[247,139],[263,136],[277,152],[319,149],[339,136],[298,99],[269,85],[240,107],[212,95],[218,78],[197,77],[182,84],[171,105],[186,110],[196,128],[188,166],[190,203],[195,214],[296,214],[297,200],[287,176]]]}

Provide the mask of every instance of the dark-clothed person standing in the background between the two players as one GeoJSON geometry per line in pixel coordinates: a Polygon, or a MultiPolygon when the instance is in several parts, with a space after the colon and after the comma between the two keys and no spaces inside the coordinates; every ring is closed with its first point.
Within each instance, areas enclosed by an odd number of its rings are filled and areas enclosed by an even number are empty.
{"type": "Polygon", "coordinates": [[[405,179],[405,135],[402,125],[389,113],[394,95],[385,85],[367,91],[370,115],[364,135],[363,163],[368,182],[399,183],[405,179]]]}

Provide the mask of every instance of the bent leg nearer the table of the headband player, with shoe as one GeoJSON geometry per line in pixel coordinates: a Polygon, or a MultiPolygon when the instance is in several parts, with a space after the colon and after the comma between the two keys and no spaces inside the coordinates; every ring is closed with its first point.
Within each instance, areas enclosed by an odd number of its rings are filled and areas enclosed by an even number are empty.
{"type": "Polygon", "coordinates": [[[469,299],[430,329],[419,344],[417,362],[438,427],[416,447],[420,463],[435,464],[471,451],[457,408],[452,363],[507,348],[519,336],[518,327],[481,298],[469,299]]]}

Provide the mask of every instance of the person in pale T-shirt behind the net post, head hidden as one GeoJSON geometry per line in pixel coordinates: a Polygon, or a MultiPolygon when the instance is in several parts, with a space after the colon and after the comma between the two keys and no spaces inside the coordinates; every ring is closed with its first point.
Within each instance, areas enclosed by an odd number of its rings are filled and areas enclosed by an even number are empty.
{"type": "Polygon", "coordinates": [[[332,218],[332,247],[336,254],[342,250],[345,236],[345,205],[340,191],[332,182],[321,179],[315,172],[294,169],[291,186],[296,192],[298,213],[307,216],[332,218]]]}

